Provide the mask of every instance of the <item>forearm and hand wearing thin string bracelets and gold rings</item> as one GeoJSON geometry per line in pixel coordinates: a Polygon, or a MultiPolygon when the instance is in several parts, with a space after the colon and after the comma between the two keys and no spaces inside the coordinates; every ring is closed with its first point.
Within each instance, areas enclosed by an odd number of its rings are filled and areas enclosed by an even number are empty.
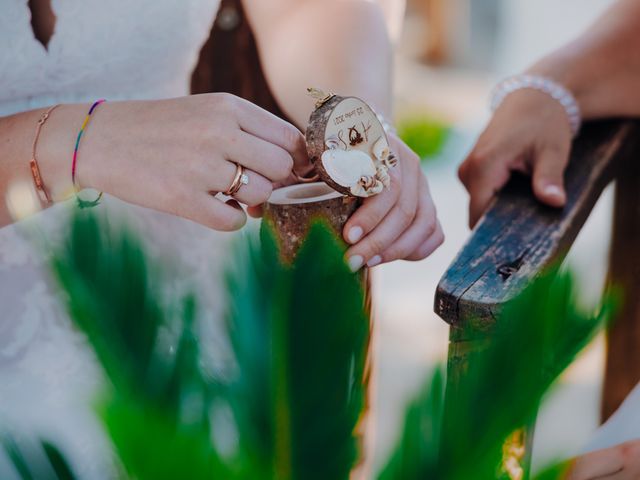
{"type": "MultiPolygon", "coordinates": [[[[61,105],[42,129],[37,159],[54,201],[73,191],[71,158],[88,108],[61,105]]],[[[9,197],[15,188],[35,195],[29,159],[43,111],[0,118],[0,226],[14,220],[9,197]]],[[[308,161],[300,131],[232,95],[108,102],[82,137],[77,180],[81,188],[229,231],[246,222],[238,202],[265,202],[273,183],[291,174],[294,161],[308,161]],[[234,200],[214,197],[229,188],[238,165],[245,167],[249,184],[234,200]]]]}

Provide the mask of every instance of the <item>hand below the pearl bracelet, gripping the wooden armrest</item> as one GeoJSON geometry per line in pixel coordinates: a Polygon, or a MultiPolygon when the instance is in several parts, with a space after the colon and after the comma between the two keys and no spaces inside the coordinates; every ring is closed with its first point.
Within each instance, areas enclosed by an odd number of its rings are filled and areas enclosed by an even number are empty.
{"type": "Polygon", "coordinates": [[[564,206],[571,142],[567,115],[557,101],[535,90],[509,95],[460,166],[460,180],[471,196],[469,225],[477,223],[512,171],[532,175],[541,202],[564,206]]]}

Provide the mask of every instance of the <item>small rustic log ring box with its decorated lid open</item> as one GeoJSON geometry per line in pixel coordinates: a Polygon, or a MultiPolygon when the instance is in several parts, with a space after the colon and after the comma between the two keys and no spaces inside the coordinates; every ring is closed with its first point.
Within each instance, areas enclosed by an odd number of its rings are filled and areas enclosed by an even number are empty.
{"type": "Polygon", "coordinates": [[[324,218],[342,236],[362,199],[389,187],[389,169],[396,165],[384,126],[369,105],[316,89],[309,94],[317,100],[306,134],[314,172],[299,178],[301,184],[274,191],[264,209],[287,263],[315,218],[324,218]]]}

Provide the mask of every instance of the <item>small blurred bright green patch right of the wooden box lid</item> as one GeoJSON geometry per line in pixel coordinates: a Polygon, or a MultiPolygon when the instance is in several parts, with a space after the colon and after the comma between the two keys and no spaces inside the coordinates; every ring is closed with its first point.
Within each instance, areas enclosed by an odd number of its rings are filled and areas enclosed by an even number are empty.
{"type": "Polygon", "coordinates": [[[450,133],[449,125],[426,114],[401,118],[397,128],[400,138],[423,161],[428,161],[442,152],[450,133]]]}

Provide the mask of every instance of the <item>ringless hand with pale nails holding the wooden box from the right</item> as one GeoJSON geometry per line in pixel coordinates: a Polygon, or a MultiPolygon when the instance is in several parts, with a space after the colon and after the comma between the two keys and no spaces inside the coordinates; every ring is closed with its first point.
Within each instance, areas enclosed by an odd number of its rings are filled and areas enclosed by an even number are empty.
{"type": "Polygon", "coordinates": [[[444,241],[420,159],[396,136],[389,140],[399,159],[390,170],[391,187],[366,199],[344,228],[354,271],[393,260],[422,260],[444,241]]]}

